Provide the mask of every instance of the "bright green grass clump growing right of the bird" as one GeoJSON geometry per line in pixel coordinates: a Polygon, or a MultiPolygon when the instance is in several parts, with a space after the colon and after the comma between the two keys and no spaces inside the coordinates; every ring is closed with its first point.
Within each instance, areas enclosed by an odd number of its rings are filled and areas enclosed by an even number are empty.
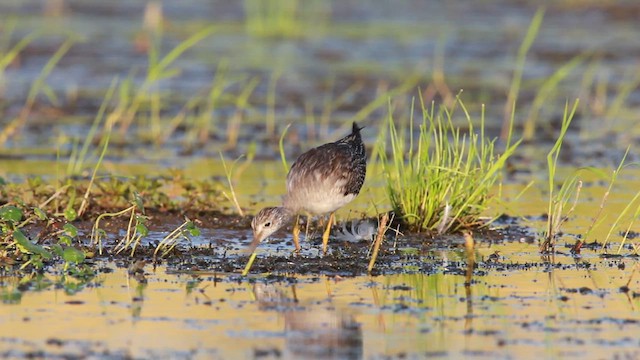
{"type": "Polygon", "coordinates": [[[498,154],[495,140],[485,137],[484,108],[478,133],[458,97],[452,108],[440,107],[437,114],[433,104],[427,108],[421,103],[421,110],[417,140],[413,115],[405,136],[390,112],[390,149],[386,139],[379,142],[393,210],[413,231],[444,233],[481,225],[480,215],[487,209],[492,186],[519,142],[508,141],[498,154]],[[467,130],[453,123],[460,110],[467,130]]]}

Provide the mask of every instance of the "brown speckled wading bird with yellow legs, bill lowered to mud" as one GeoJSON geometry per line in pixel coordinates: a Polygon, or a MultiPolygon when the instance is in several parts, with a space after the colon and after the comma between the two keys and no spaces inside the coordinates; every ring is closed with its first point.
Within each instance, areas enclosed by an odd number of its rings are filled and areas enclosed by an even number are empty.
{"type": "Polygon", "coordinates": [[[294,217],[293,242],[300,251],[298,216],[329,215],[322,235],[322,252],[327,244],[335,211],[360,193],[367,172],[367,155],[360,130],[353,122],[351,134],[320,145],[300,155],[287,174],[287,193],[282,205],[265,207],[251,221],[253,241],[247,250],[255,251],[260,242],[288,224],[294,217]]]}

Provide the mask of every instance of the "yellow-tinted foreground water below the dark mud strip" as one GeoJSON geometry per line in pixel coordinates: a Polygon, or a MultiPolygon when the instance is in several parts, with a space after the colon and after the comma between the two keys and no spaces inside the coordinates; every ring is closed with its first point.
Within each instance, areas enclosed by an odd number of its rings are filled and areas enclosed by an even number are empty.
{"type": "MultiPolygon", "coordinates": [[[[510,245],[504,245],[509,247],[510,245]]],[[[531,245],[533,252],[535,246],[531,245]]],[[[502,249],[508,252],[509,249],[502,249]]],[[[515,251],[512,251],[514,253],[515,251]]],[[[141,358],[640,356],[635,260],[464,276],[298,278],[295,285],[124,269],[75,295],[0,308],[0,354],[141,358]],[[624,264],[625,266],[619,266],[624,264]],[[223,280],[223,281],[219,281],[223,280]],[[194,286],[195,284],[195,286],[194,286]]]]}

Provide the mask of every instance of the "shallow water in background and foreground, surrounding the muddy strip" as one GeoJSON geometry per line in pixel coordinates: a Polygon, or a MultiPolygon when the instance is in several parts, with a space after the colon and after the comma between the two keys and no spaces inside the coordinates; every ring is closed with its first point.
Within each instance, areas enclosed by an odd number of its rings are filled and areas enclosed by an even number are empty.
{"type": "MultiPolygon", "coordinates": [[[[0,77],[0,131],[20,111],[29,87],[67,33],[80,36],[46,80],[58,103],[39,96],[25,126],[0,146],[0,177],[23,181],[43,176],[53,181],[68,175],[67,158],[74,144],[85,140],[112,79],[133,74],[133,81],[139,83],[145,75],[148,39],[142,18],[147,3],[69,1],[59,15],[43,11],[43,4],[49,2],[0,4],[0,30],[8,31],[10,21],[16,20],[10,44],[32,31],[46,34],[0,77]]],[[[156,89],[169,90],[163,94],[166,114],[160,126],[169,126],[189,99],[209,91],[221,64],[228,66],[225,91],[230,98],[212,110],[212,131],[196,145],[190,143],[192,118],[171,132],[166,142],[152,145],[148,133],[153,125],[141,116],[130,131],[114,132],[100,174],[153,177],[177,168],[181,176],[212,180],[224,187],[219,152],[234,159],[255,146],[258,159],[246,167],[239,161],[234,176],[240,203],[254,212],[278,203],[284,192],[285,171],[274,160],[279,156],[277,136],[263,133],[270,111],[277,119],[277,133],[293,124],[285,139],[291,160],[310,146],[342,136],[345,123],[393,84],[416,76],[423,81],[419,86],[427,89],[434,72],[442,70],[449,91],[465,90],[463,99],[472,113],[479,112],[480,104],[487,105],[488,131],[495,133],[515,54],[539,2],[405,1],[390,6],[384,1],[339,1],[331,5],[330,19],[318,19],[317,34],[267,39],[247,32],[242,2],[190,0],[163,5],[163,53],[204,26],[212,24],[217,30],[177,60],[178,76],[154,84],[156,89]],[[275,104],[270,105],[269,82],[279,72],[275,104]],[[254,76],[258,85],[244,122],[234,124],[234,96],[254,76]],[[357,90],[324,119],[326,103],[352,86],[357,90]],[[231,146],[227,136],[233,126],[239,126],[239,138],[231,146]]],[[[100,272],[88,283],[55,275],[60,269],[39,279],[2,273],[0,356],[640,358],[637,256],[631,255],[629,245],[621,249],[624,256],[610,258],[600,256],[599,246],[583,249],[580,256],[570,255],[568,248],[593,222],[610,166],[617,164],[627,145],[638,143],[635,108],[640,91],[632,86],[624,98],[618,98],[625,86],[636,81],[637,6],[564,0],[547,6],[544,25],[524,68],[518,124],[528,116],[540,84],[554,71],[578,54],[590,52],[593,57],[553,89],[545,101],[536,141],[518,152],[515,174],[495,189],[503,201],[487,215],[507,213],[519,218],[519,224],[533,229],[530,237],[544,228],[548,197],[546,170],[541,165],[544,148],[549,138],[554,139],[554,119],[565,100],[580,97],[580,118],[563,149],[567,166],[559,170],[559,178],[567,178],[578,166],[594,164],[605,176],[583,174],[582,196],[563,228],[555,258],[541,257],[537,244],[524,240],[488,243],[477,239],[479,265],[470,287],[465,287],[466,279],[460,275],[466,266],[464,252],[456,246],[424,252],[409,249],[419,254],[418,261],[432,265],[429,271],[415,273],[415,263],[400,261],[397,268],[402,274],[374,277],[254,272],[242,279],[240,268],[228,274],[211,269],[181,272],[183,267],[175,262],[156,269],[147,265],[144,275],[130,275],[120,261],[95,264],[100,272]],[[530,180],[537,183],[521,195],[530,180]]],[[[413,95],[408,91],[400,96],[404,100],[397,106],[408,108],[407,99],[413,95]]],[[[443,94],[431,96],[440,100],[443,94]]],[[[362,119],[369,148],[386,119],[386,105],[385,101],[362,119]]],[[[83,175],[93,170],[99,150],[91,148],[83,175]]],[[[637,154],[632,150],[628,162],[637,160],[637,154]]],[[[604,240],[617,214],[637,192],[637,179],[637,170],[625,169],[588,242],[604,240]]],[[[383,187],[381,171],[371,168],[362,194],[339,212],[339,218],[388,209],[383,187]]],[[[176,218],[175,224],[150,229],[145,243],[161,240],[181,221],[176,218]]],[[[612,233],[609,254],[617,253],[622,238],[618,231],[612,233]]],[[[203,226],[202,235],[180,246],[212,247],[237,256],[249,239],[249,228],[203,226]]],[[[258,256],[284,258],[290,254],[289,241],[290,234],[280,232],[275,241],[261,245],[258,256]]],[[[338,246],[339,242],[331,244],[333,249],[338,246]]],[[[318,253],[317,245],[303,242],[303,255],[318,253]]],[[[188,264],[186,259],[176,261],[188,264]]]]}

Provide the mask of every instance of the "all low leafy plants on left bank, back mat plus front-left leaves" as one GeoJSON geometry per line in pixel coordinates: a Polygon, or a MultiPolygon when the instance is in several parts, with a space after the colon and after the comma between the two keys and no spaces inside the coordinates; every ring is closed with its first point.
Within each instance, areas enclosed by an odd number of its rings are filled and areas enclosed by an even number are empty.
{"type": "MultiPolygon", "coordinates": [[[[92,257],[94,247],[103,253],[103,240],[109,234],[101,221],[123,216],[128,218],[125,234],[107,248],[112,254],[128,249],[133,256],[149,232],[145,208],[183,213],[223,210],[220,185],[175,175],[157,179],[94,176],[89,181],[68,179],[58,188],[38,178],[4,183],[0,186],[0,264],[42,268],[46,262],[62,260],[65,270],[72,269],[92,257]],[[95,189],[85,201],[83,195],[90,186],[95,189]],[[85,211],[76,212],[82,204],[85,211]],[[87,220],[93,224],[88,243],[72,223],[87,220]]],[[[191,236],[199,231],[190,221],[179,229],[185,226],[191,236]]]]}

